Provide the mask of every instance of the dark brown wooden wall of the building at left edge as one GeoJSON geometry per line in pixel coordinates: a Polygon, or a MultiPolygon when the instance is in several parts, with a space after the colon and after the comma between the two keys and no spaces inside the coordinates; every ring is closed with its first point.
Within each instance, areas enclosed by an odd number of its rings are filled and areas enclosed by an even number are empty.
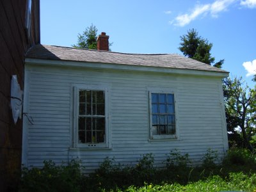
{"type": "Polygon", "coordinates": [[[12,75],[24,90],[24,56],[40,43],[39,0],[32,1],[31,35],[26,31],[27,0],[0,1],[0,191],[15,191],[20,170],[22,120],[14,124],[10,108],[12,75]]]}

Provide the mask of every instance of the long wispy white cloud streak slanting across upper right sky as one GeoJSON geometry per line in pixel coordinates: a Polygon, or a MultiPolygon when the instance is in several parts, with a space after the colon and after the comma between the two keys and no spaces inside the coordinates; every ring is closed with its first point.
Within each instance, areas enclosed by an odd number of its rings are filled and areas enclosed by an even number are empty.
{"type": "Polygon", "coordinates": [[[170,23],[174,24],[175,26],[183,27],[189,24],[192,20],[197,19],[200,15],[207,15],[207,13],[209,13],[212,17],[218,17],[218,13],[227,10],[228,6],[235,1],[237,0],[216,0],[212,4],[196,5],[191,13],[179,15],[170,23]]]}

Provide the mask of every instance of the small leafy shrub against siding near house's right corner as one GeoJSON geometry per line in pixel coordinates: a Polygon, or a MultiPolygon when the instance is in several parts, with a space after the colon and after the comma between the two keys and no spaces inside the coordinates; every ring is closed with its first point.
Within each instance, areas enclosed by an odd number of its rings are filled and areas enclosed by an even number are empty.
{"type": "Polygon", "coordinates": [[[202,157],[201,161],[202,167],[207,169],[212,169],[216,167],[216,161],[218,161],[218,150],[207,149],[206,154],[202,157]]]}

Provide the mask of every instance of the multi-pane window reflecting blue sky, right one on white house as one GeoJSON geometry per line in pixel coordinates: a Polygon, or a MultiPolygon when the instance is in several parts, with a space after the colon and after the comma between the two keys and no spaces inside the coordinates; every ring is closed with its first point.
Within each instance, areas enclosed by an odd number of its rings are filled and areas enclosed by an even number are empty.
{"type": "Polygon", "coordinates": [[[176,137],[174,93],[150,92],[150,139],[176,137]]]}

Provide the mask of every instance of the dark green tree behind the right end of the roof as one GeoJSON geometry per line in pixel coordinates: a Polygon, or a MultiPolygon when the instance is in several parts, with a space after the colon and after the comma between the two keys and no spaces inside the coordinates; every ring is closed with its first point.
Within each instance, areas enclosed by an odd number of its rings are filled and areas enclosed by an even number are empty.
{"type": "MultiPolygon", "coordinates": [[[[206,38],[198,35],[196,29],[190,29],[186,35],[180,36],[180,51],[184,56],[201,61],[208,65],[214,63],[215,58],[211,56],[212,43],[209,43],[206,38]]],[[[221,68],[224,60],[220,60],[213,66],[221,68]]]]}

